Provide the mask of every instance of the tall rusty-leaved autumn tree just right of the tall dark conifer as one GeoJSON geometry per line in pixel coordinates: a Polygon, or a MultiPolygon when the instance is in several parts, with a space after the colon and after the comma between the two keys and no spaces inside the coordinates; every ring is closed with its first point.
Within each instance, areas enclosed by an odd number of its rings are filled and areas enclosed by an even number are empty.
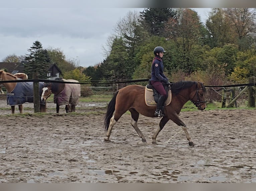
{"type": "MultiPolygon", "coordinates": [[[[176,19],[170,18],[166,25],[166,36],[176,45],[175,60],[179,68],[187,74],[195,71],[195,50],[202,45],[202,23],[197,12],[191,9],[178,9],[176,19]],[[193,55],[193,56],[192,56],[193,55]]],[[[197,56],[200,57],[198,54],[197,56]]]]}

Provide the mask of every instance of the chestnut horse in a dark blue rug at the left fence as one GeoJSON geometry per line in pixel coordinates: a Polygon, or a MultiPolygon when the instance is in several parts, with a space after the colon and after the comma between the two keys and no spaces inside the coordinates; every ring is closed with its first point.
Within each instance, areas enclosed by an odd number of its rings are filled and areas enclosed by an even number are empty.
{"type": "MultiPolygon", "coordinates": [[[[26,76],[26,75],[25,75],[26,76]]],[[[18,105],[20,113],[23,113],[22,104],[25,102],[33,102],[33,82],[10,82],[1,83],[1,81],[7,80],[21,80],[17,76],[0,70],[0,84],[2,84],[7,90],[7,105],[11,105],[12,114],[15,112],[15,105],[18,105]]],[[[39,82],[39,95],[43,83],[39,82]]],[[[40,112],[46,112],[46,103],[40,102],[40,112]]]]}

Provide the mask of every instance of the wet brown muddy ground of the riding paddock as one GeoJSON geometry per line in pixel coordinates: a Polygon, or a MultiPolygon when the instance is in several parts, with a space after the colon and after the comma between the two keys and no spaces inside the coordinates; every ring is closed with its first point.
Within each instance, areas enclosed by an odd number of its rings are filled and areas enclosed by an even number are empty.
{"type": "MultiPolygon", "coordinates": [[[[142,143],[124,114],[104,142],[107,103],[82,103],[77,113],[9,115],[0,100],[0,182],[256,182],[256,109],[181,112],[195,147],[169,121],[152,144],[160,118],[140,116],[142,143]],[[100,112],[95,112],[100,111],[100,112]],[[169,142],[167,142],[169,140],[169,142]]],[[[16,109],[16,113],[18,110],[16,109]]]]}

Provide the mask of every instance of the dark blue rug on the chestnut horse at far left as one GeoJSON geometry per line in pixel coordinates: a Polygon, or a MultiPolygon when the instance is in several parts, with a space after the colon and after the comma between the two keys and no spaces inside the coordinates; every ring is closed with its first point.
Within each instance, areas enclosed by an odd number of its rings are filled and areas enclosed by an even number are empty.
{"type": "MultiPolygon", "coordinates": [[[[39,82],[39,95],[42,94],[43,82],[39,82]]],[[[33,82],[18,82],[14,90],[7,92],[7,105],[21,105],[25,102],[32,103],[33,97],[33,82]]],[[[40,104],[45,105],[45,101],[40,100],[40,104]]]]}

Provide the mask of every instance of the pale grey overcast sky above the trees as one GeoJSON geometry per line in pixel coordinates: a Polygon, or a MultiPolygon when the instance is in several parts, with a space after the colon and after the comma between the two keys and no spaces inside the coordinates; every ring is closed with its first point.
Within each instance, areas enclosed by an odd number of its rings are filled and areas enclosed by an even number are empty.
{"type": "MultiPolygon", "coordinates": [[[[44,49],[59,48],[67,59],[76,60],[79,66],[94,66],[105,59],[103,46],[114,33],[117,22],[128,11],[143,10],[96,8],[97,1],[95,7],[91,5],[88,8],[87,1],[81,1],[77,8],[72,8],[65,5],[65,0],[60,1],[62,4],[59,8],[57,5],[48,8],[48,3],[52,3],[50,0],[41,1],[41,5],[26,4],[28,1],[17,0],[20,4],[15,4],[15,7],[11,6],[13,0],[1,2],[0,62],[8,55],[29,54],[27,49],[33,42],[40,41],[44,49]]],[[[193,9],[205,22],[210,8],[193,9]]]]}

